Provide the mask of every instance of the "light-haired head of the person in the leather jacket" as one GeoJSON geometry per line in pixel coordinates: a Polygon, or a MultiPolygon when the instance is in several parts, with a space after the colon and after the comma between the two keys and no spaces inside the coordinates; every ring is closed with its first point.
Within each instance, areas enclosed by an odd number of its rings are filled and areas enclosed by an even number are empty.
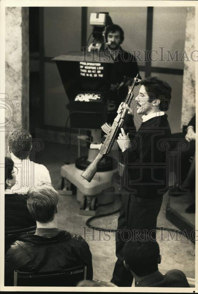
{"type": "Polygon", "coordinates": [[[46,182],[31,187],[27,193],[28,210],[39,223],[49,223],[54,219],[58,200],[58,192],[46,182]]]}

